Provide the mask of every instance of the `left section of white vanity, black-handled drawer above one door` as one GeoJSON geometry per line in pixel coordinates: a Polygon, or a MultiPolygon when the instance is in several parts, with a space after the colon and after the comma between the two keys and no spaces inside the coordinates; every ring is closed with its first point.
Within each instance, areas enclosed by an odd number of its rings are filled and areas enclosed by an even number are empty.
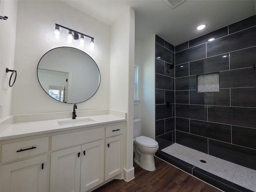
{"type": "Polygon", "coordinates": [[[46,152],[48,137],[2,144],[1,191],[47,191],[50,163],[46,152]]]}

